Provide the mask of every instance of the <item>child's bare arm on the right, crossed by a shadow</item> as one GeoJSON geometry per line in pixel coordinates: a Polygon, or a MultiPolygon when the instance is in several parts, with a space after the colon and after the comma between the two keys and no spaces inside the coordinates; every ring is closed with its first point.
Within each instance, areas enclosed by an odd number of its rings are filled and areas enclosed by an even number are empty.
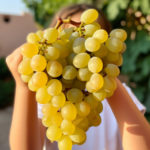
{"type": "Polygon", "coordinates": [[[108,98],[117,119],[124,150],[150,150],[150,125],[117,79],[117,89],[108,98]]]}

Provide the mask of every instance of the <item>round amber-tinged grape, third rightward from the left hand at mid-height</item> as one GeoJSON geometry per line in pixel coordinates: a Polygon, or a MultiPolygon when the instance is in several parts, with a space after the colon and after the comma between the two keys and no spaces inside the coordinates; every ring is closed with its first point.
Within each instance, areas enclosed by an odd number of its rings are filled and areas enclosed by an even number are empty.
{"type": "Polygon", "coordinates": [[[63,68],[62,65],[56,61],[56,60],[52,60],[49,61],[47,64],[47,73],[51,76],[51,77],[59,77],[62,74],[63,68]]]}

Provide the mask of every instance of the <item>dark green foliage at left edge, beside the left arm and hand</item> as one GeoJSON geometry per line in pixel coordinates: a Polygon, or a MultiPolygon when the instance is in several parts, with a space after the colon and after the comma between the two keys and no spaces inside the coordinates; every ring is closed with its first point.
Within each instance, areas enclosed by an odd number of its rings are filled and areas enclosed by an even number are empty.
{"type": "Polygon", "coordinates": [[[13,102],[14,81],[6,66],[5,59],[0,58],[0,108],[13,102]]]}

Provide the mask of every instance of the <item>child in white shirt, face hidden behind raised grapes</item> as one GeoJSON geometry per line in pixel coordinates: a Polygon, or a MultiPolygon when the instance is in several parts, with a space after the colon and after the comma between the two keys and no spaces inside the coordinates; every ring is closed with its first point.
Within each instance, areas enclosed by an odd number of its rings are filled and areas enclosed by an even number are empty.
{"type": "MultiPolygon", "coordinates": [[[[89,5],[75,5],[61,10],[56,16],[79,21],[81,13],[93,8],[89,5]]],[[[113,10],[112,10],[113,11],[113,10]]],[[[108,21],[100,13],[98,22],[110,31],[108,21]]],[[[52,26],[56,23],[56,17],[52,26]]],[[[65,27],[65,26],[64,26],[65,27]]],[[[22,60],[20,48],[6,58],[7,65],[16,81],[16,94],[10,129],[11,150],[57,150],[56,143],[45,140],[45,127],[41,123],[41,105],[35,101],[35,94],[28,90],[17,71],[22,60]],[[38,111],[38,114],[37,114],[38,111]],[[44,143],[45,141],[45,143],[44,143]]],[[[114,95],[103,101],[102,124],[87,131],[87,141],[73,150],[149,150],[150,126],[143,114],[145,107],[140,104],[129,87],[118,79],[114,95]],[[141,113],[141,112],[142,113],[141,113]],[[113,112],[113,113],[112,113],[113,112]]]]}

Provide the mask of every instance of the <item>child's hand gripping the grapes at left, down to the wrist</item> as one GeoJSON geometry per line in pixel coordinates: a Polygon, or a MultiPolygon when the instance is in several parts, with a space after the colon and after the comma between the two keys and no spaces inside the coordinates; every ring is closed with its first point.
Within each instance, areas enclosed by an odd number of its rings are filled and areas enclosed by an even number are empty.
{"type": "Polygon", "coordinates": [[[21,80],[21,76],[18,73],[18,65],[20,64],[21,61],[22,61],[22,55],[20,52],[20,47],[14,50],[10,55],[6,57],[7,66],[15,79],[16,85],[27,86],[21,80]]]}

